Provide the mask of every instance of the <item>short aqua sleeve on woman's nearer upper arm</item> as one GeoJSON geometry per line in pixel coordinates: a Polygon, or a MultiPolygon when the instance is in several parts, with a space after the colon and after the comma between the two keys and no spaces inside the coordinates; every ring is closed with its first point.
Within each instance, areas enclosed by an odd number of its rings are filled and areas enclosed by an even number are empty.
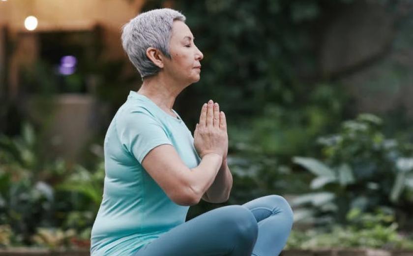
{"type": "Polygon", "coordinates": [[[125,110],[116,120],[120,143],[142,164],[153,148],[171,144],[159,121],[140,110],[125,110]]]}

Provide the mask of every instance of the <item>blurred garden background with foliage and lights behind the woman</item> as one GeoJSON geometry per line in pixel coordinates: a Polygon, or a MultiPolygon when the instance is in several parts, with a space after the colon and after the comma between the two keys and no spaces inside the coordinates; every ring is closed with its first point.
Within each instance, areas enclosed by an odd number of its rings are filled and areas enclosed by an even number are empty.
{"type": "MultiPolygon", "coordinates": [[[[0,247],[89,248],[103,139],[142,83],[120,44],[181,11],[204,53],[174,109],[220,103],[225,204],[285,196],[287,248],[413,249],[412,0],[0,0],[0,247]]],[[[167,217],[165,217],[167,218],[167,217]]]]}

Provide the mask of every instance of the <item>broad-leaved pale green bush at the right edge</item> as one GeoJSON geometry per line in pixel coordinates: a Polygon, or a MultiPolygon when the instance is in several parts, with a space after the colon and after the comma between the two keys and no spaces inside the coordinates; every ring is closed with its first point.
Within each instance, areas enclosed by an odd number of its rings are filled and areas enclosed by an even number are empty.
{"type": "Polygon", "coordinates": [[[292,202],[307,208],[296,221],[345,223],[349,209],[371,212],[386,206],[409,214],[413,206],[413,145],[386,138],[380,118],[361,114],[342,124],[339,133],[319,138],[324,160],[295,157],[293,161],[315,175],[310,194],[292,202]]]}

